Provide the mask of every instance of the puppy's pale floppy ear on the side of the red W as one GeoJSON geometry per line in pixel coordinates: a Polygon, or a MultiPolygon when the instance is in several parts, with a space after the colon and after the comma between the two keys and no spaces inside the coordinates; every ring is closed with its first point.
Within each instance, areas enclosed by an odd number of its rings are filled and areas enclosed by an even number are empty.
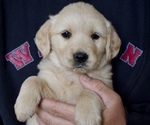
{"type": "Polygon", "coordinates": [[[38,30],[35,36],[35,43],[45,58],[50,53],[50,19],[47,20],[38,30]]]}

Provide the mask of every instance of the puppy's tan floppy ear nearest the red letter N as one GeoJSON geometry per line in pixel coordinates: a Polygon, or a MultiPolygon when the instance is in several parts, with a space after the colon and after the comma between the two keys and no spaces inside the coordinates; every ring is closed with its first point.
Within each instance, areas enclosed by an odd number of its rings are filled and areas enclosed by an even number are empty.
{"type": "Polygon", "coordinates": [[[106,44],[106,59],[110,60],[117,56],[120,50],[121,40],[116,33],[113,26],[109,25],[108,27],[108,36],[107,36],[107,44],[106,44]]]}

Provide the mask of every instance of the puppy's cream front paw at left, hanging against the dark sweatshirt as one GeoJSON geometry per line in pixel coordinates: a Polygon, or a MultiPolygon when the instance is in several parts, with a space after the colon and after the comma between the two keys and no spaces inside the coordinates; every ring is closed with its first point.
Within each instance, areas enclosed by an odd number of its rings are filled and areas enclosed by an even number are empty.
{"type": "Polygon", "coordinates": [[[29,77],[23,83],[19,96],[14,106],[16,117],[24,122],[35,114],[41,100],[39,85],[35,82],[36,77],[29,77]]]}

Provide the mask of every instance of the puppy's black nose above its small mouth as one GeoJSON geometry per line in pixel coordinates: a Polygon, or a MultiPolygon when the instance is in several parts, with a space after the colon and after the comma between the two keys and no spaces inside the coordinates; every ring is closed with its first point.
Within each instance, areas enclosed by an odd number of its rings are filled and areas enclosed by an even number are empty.
{"type": "Polygon", "coordinates": [[[73,55],[74,61],[77,63],[84,63],[88,59],[88,55],[84,52],[77,52],[73,55]]]}

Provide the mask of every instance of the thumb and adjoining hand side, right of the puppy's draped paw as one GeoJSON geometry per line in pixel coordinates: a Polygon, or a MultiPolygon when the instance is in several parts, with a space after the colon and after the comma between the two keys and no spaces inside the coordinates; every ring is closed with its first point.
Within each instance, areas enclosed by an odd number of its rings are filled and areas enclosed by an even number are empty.
{"type": "Polygon", "coordinates": [[[103,100],[105,109],[102,113],[103,125],[126,125],[125,110],[121,97],[100,80],[82,75],[80,78],[84,88],[93,90],[103,100]]]}

